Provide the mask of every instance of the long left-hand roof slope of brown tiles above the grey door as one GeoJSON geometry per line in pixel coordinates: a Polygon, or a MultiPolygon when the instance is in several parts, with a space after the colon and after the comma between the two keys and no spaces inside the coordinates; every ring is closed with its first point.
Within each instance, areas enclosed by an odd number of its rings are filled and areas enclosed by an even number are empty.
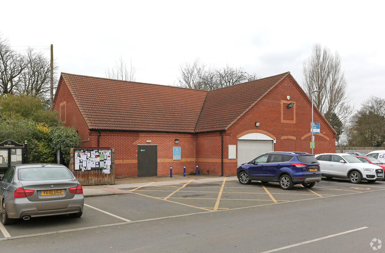
{"type": "Polygon", "coordinates": [[[193,132],[207,91],[62,73],[90,129],[193,132]]]}

